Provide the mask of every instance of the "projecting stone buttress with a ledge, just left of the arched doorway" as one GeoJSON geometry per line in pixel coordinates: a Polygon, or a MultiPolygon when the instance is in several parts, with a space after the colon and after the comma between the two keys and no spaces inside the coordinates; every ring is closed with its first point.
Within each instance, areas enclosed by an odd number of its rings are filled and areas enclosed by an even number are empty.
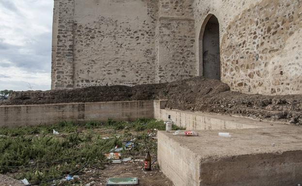
{"type": "Polygon", "coordinates": [[[196,75],[191,0],[159,0],[156,83],[196,75]]]}

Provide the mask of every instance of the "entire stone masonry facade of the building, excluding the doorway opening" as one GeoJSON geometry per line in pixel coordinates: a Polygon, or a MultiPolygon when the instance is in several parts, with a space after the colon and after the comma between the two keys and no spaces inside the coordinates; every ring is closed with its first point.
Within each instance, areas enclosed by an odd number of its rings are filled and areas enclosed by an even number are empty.
{"type": "Polygon", "coordinates": [[[248,94],[302,94],[301,12],[301,0],[55,0],[52,89],[202,76],[213,14],[221,81],[248,94]]]}

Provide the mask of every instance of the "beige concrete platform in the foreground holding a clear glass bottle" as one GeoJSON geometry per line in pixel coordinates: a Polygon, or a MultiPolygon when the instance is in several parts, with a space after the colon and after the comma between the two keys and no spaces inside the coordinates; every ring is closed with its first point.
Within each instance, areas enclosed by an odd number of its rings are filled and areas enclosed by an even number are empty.
{"type": "Polygon", "coordinates": [[[158,133],[159,166],[175,186],[302,183],[302,127],[198,132],[196,137],[158,133]],[[222,131],[231,137],[220,137],[222,131]]]}

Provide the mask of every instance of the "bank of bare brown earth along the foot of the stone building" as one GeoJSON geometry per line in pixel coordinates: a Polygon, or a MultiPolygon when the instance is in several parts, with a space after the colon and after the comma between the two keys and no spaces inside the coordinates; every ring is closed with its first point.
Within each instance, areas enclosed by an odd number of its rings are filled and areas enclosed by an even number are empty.
{"type": "Polygon", "coordinates": [[[302,124],[302,95],[265,96],[230,91],[218,80],[187,80],[138,86],[93,86],[71,90],[13,92],[0,105],[66,102],[168,100],[167,108],[302,124]]]}

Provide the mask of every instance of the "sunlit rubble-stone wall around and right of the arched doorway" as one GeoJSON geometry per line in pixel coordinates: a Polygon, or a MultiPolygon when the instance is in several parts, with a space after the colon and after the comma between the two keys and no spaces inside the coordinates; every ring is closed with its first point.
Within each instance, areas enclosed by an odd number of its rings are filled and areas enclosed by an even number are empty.
{"type": "MultiPolygon", "coordinates": [[[[301,0],[194,0],[195,34],[208,14],[220,24],[221,79],[232,90],[302,93],[301,0]]],[[[196,44],[199,64],[199,46],[196,44]]]]}

